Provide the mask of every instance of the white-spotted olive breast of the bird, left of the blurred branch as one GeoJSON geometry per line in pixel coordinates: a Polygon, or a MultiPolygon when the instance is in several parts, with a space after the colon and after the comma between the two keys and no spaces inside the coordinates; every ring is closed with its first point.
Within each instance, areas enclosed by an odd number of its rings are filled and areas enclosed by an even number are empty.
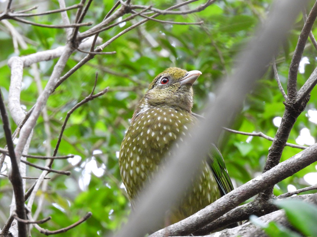
{"type": "Polygon", "coordinates": [[[153,171],[179,137],[193,124],[192,115],[172,107],[155,107],[136,116],[122,141],[120,172],[130,199],[151,178],[153,171]]]}

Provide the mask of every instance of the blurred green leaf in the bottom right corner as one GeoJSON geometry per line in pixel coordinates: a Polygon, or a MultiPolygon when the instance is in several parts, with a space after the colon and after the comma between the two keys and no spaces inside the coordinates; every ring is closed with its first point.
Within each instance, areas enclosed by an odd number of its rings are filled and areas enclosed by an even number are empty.
{"type": "Polygon", "coordinates": [[[307,236],[317,236],[317,206],[301,200],[277,200],[274,202],[286,212],[289,222],[307,236]]]}

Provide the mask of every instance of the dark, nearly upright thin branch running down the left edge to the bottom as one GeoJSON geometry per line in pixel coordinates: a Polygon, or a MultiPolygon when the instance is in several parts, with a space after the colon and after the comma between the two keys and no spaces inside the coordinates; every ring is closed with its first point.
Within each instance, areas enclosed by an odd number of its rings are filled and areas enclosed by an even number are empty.
{"type": "MultiPolygon", "coordinates": [[[[26,213],[24,209],[24,191],[22,177],[19,171],[19,164],[17,163],[16,154],[14,151],[14,145],[11,138],[11,128],[9,118],[5,105],[3,103],[2,91],[0,88],[0,112],[3,121],[3,130],[5,138],[8,144],[8,151],[10,155],[12,171],[10,172],[9,179],[13,186],[14,197],[16,200],[16,212],[21,219],[26,219],[26,213]]],[[[18,223],[19,237],[26,237],[26,225],[24,223],[18,223]]]]}

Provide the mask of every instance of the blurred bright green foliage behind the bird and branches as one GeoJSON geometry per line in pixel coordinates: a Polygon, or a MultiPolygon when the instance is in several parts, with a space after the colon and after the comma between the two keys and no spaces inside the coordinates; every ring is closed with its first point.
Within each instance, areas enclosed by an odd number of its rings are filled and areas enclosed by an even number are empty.
{"type": "MultiPolygon", "coordinates": [[[[34,1],[35,2],[35,1],[34,1]]],[[[174,1],[151,2],[134,1],[135,4],[153,4],[165,9],[174,1]]],[[[14,1],[15,3],[15,1],[14,1]]],[[[25,2],[18,2],[17,9],[22,9],[25,2]]],[[[77,1],[67,1],[68,6],[77,1]]],[[[110,0],[93,1],[85,21],[102,21],[107,11],[115,2],[110,0]]],[[[197,7],[204,1],[190,4],[197,7]]],[[[195,98],[193,111],[201,113],[207,99],[214,98],[217,84],[228,74],[234,74],[233,65],[239,60],[237,53],[245,49],[245,42],[254,35],[256,26],[266,17],[271,1],[216,1],[202,12],[187,16],[160,16],[166,21],[194,22],[204,21],[201,26],[170,25],[149,21],[145,25],[126,33],[110,44],[106,51],[116,51],[114,55],[97,55],[66,80],[48,100],[49,125],[51,131],[51,149],[55,148],[57,137],[66,113],[92,90],[95,73],[98,72],[96,92],[109,87],[109,92],[78,108],[70,117],[58,155],[76,155],[73,159],[55,161],[54,169],[68,169],[70,176],[51,173],[48,191],[44,195],[44,207],[39,218],[52,216],[52,220],[42,224],[50,230],[63,228],[80,219],[88,211],[93,216],[86,222],[57,236],[96,236],[111,233],[125,222],[130,212],[126,192],[121,182],[118,168],[118,151],[124,133],[129,126],[134,107],[146,91],[152,79],[170,66],[186,70],[200,70],[203,75],[194,85],[195,98]]],[[[1,3],[3,4],[3,3],[1,3]]],[[[33,3],[32,3],[33,4],[33,3]]],[[[37,2],[39,10],[59,8],[57,1],[37,2]]],[[[2,7],[2,5],[0,5],[2,7]]],[[[308,7],[309,9],[309,7],[308,7]]],[[[68,12],[71,19],[75,10],[68,12]]],[[[38,23],[61,24],[59,14],[36,16],[30,19],[38,23]]],[[[54,49],[65,44],[65,32],[62,29],[34,27],[10,21],[25,37],[28,48],[16,53],[12,38],[3,24],[0,24],[0,86],[5,99],[8,99],[10,70],[8,59],[14,55],[29,55],[34,52],[54,49]]],[[[128,22],[106,32],[100,33],[104,40],[112,38],[122,29],[130,26],[128,22]]],[[[288,67],[298,35],[303,25],[302,16],[296,20],[288,40],[278,52],[276,58],[278,73],[286,89],[288,67]]],[[[83,30],[85,27],[83,27],[83,30]]],[[[317,34],[316,27],[313,33],[317,34]]],[[[85,56],[73,54],[64,70],[69,69],[85,56]]],[[[302,85],[316,67],[316,51],[307,43],[303,56],[306,64],[304,72],[298,75],[302,85]]],[[[261,57],[261,55],[259,55],[261,57]]],[[[38,64],[42,86],[44,87],[57,59],[38,64]]],[[[33,81],[34,72],[24,69],[21,102],[28,111],[36,102],[38,90],[33,81]]],[[[259,132],[274,137],[277,126],[273,120],[284,112],[283,97],[277,87],[271,65],[265,76],[258,81],[257,88],[247,98],[231,128],[245,132],[259,132]]],[[[289,137],[290,143],[314,143],[316,138],[316,89],[311,93],[311,100],[305,112],[298,118],[289,137]],[[307,128],[310,135],[303,135],[298,140],[302,129],[307,128]],[[297,140],[296,140],[297,139],[297,140]],[[309,139],[311,141],[309,141],[309,139]]],[[[1,122],[1,121],[0,121],[1,122]]],[[[12,130],[16,125],[11,120],[12,130]]],[[[307,130],[304,130],[307,131],[307,130]]],[[[34,130],[30,145],[30,154],[45,155],[45,143],[48,137],[44,130],[43,118],[40,117],[34,130]]],[[[0,128],[0,147],[6,144],[3,128],[0,128]]],[[[239,186],[262,173],[271,142],[260,137],[223,132],[219,148],[223,153],[231,178],[239,186]]],[[[302,145],[302,144],[301,144],[302,145]]],[[[297,154],[300,150],[286,147],[281,160],[297,154]]],[[[7,160],[6,160],[7,161],[7,160]]],[[[29,159],[44,166],[44,161],[29,159]]],[[[2,173],[7,173],[10,164],[5,162],[2,173]]],[[[28,176],[37,177],[40,171],[27,167],[28,176]]],[[[313,164],[275,186],[274,193],[287,192],[294,185],[297,189],[308,186],[307,173],[316,176],[316,164],[313,164]],[[307,176],[306,176],[307,177],[307,176]]],[[[310,179],[311,180],[311,179],[310,179]]],[[[27,188],[33,181],[27,180],[27,188]]],[[[38,192],[38,196],[42,193],[38,192]]],[[[9,204],[12,188],[6,177],[0,176],[0,226],[9,216],[9,204]]],[[[39,204],[35,203],[34,212],[39,204]]],[[[41,236],[36,230],[33,236],[41,236]]]]}

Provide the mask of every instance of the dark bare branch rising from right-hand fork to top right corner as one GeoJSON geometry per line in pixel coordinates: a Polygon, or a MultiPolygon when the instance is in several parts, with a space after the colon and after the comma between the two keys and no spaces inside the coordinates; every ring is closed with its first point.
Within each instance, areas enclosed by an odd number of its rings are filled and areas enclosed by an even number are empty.
{"type": "Polygon", "coordinates": [[[287,82],[287,93],[289,99],[294,99],[297,95],[297,73],[301,56],[304,52],[304,48],[309,36],[309,33],[313,27],[317,16],[317,2],[315,2],[312,10],[310,11],[307,20],[305,21],[304,27],[301,30],[301,34],[298,38],[298,42],[294,51],[294,55],[289,66],[288,71],[288,82],[287,82]]]}

